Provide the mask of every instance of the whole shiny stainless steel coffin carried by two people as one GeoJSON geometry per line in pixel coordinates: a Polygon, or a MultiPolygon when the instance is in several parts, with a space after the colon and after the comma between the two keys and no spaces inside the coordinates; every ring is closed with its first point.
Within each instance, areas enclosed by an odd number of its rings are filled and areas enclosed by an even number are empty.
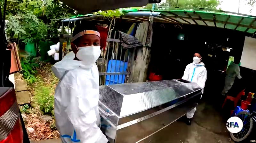
{"type": "Polygon", "coordinates": [[[201,91],[185,80],[101,86],[102,132],[111,143],[140,142],[196,107],[201,91]]]}

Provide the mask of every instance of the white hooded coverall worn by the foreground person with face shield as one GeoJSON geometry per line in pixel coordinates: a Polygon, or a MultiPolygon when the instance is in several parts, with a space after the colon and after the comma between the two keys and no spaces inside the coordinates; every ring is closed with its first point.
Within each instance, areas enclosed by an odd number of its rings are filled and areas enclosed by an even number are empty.
{"type": "Polygon", "coordinates": [[[96,64],[84,65],[70,52],[52,71],[60,79],[54,95],[56,127],[63,143],[107,143],[101,132],[99,71],[96,64]]]}

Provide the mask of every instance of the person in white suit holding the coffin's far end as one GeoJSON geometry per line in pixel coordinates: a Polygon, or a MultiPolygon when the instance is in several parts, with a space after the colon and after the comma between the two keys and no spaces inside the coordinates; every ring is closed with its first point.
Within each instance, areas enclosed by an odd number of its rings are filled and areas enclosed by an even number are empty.
{"type": "MultiPolygon", "coordinates": [[[[201,54],[195,53],[193,62],[187,65],[182,79],[185,79],[190,82],[196,82],[197,85],[204,88],[207,79],[207,70],[204,67],[204,63],[201,62],[201,60],[201,54]]],[[[202,94],[203,93],[204,89],[202,90],[202,94]]],[[[187,113],[187,117],[185,117],[185,123],[187,125],[191,125],[191,119],[194,117],[195,112],[196,108],[192,109],[187,113]]]]}

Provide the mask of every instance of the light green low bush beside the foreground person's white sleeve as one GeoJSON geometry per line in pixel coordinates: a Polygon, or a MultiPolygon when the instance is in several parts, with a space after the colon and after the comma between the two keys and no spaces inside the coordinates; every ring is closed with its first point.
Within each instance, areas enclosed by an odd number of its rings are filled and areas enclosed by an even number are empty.
{"type": "Polygon", "coordinates": [[[51,87],[42,84],[37,85],[35,89],[35,99],[44,114],[53,115],[54,96],[52,95],[51,87]]]}

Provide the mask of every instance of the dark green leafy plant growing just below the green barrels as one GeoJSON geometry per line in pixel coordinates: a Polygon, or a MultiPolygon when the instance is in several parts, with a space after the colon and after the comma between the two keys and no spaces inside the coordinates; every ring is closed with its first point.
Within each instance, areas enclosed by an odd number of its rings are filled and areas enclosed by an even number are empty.
{"type": "Polygon", "coordinates": [[[30,83],[36,82],[36,67],[38,67],[38,64],[34,61],[34,56],[28,56],[27,58],[21,58],[21,73],[23,74],[23,77],[30,83]]]}

